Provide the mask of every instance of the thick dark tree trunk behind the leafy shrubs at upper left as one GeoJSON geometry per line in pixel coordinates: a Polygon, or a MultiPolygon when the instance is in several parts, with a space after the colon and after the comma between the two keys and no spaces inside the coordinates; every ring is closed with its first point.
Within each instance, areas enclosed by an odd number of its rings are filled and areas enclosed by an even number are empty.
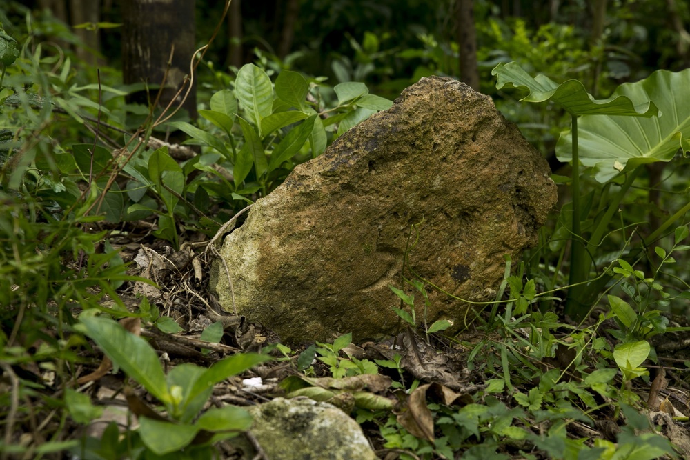
{"type": "MultiPolygon", "coordinates": [[[[159,85],[166,74],[174,48],[161,106],[167,106],[185,83],[195,52],[194,2],[190,0],[124,0],[122,2],[122,68],[125,83],[159,85]]],[[[187,86],[185,86],[187,88],[187,86]]],[[[156,92],[150,97],[153,100],[156,92]]],[[[184,92],[178,98],[184,97],[184,92]]],[[[132,101],[146,103],[146,94],[134,94],[132,101]]],[[[197,117],[195,88],[182,107],[197,117]]]]}

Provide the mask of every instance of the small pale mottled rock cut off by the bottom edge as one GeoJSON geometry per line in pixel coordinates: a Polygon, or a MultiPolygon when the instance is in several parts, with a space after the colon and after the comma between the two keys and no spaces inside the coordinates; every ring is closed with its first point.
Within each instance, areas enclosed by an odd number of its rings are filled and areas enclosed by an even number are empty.
{"type": "MultiPolygon", "coordinates": [[[[308,398],[276,398],[246,408],[249,430],[271,460],[375,460],[362,428],[342,410],[308,398]]],[[[256,452],[244,437],[233,444],[251,459],[256,452]]]]}

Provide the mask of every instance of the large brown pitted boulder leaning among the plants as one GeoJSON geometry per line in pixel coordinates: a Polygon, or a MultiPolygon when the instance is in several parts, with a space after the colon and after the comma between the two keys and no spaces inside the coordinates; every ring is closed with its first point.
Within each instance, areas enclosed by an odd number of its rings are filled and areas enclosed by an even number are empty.
{"type": "MultiPolygon", "coordinates": [[[[504,254],[515,261],[537,243],[555,200],[546,161],[491,98],[423,78],[257,201],[221,256],[237,312],[283,341],[346,332],[377,339],[398,324],[389,286],[401,287],[405,259],[409,279],[492,299],[504,254]]],[[[220,263],[211,286],[232,312],[220,263]]],[[[433,288],[428,294],[428,323],[468,308],[433,288]]],[[[416,305],[421,320],[419,293],[416,305]]]]}

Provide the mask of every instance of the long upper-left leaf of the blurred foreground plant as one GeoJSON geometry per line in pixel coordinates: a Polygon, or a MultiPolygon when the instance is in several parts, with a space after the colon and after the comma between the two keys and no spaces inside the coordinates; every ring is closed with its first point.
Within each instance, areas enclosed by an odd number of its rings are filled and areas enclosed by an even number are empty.
{"type": "Polygon", "coordinates": [[[127,332],[119,323],[108,318],[82,317],[86,334],[105,352],[110,360],[128,376],[160,401],[169,399],[166,377],[158,361],[158,355],[148,342],[127,332]]]}

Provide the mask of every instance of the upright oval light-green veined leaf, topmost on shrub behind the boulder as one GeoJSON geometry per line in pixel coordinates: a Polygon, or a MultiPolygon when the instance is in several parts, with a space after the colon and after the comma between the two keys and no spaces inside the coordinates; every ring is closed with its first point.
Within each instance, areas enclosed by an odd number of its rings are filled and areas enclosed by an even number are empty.
{"type": "Polygon", "coordinates": [[[263,139],[261,122],[273,108],[273,86],[268,75],[254,64],[246,64],[237,72],[235,92],[250,121],[257,126],[259,137],[263,139]]]}

